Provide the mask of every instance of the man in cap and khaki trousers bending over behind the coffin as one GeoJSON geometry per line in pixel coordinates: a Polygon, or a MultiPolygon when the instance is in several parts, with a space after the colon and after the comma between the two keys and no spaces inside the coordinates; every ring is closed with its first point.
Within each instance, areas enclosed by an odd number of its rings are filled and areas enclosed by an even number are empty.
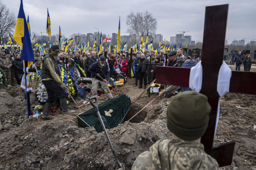
{"type": "Polygon", "coordinates": [[[109,66],[106,63],[106,58],[104,56],[99,57],[99,61],[91,64],[88,70],[91,73],[91,77],[94,78],[92,82],[92,96],[98,96],[97,87],[100,83],[107,95],[107,98],[111,99],[112,96],[107,85],[107,79],[109,78],[109,66]]]}

